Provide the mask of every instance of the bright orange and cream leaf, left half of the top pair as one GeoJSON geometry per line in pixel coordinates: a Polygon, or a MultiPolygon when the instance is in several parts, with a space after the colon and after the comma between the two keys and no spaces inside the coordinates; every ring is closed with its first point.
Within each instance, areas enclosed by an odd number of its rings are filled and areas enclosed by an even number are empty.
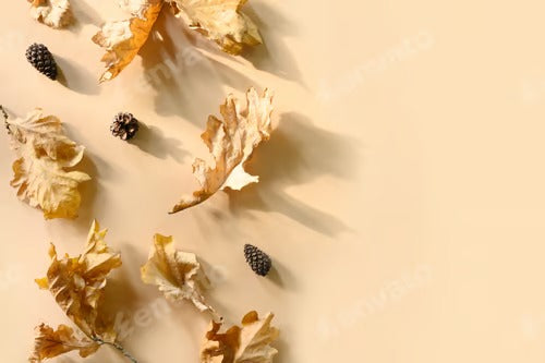
{"type": "Polygon", "coordinates": [[[119,2],[122,8],[131,12],[131,17],[106,23],[93,37],[93,41],[107,50],[102,57],[107,70],[100,82],[113,80],[136,57],[146,43],[164,4],[164,0],[119,0],[119,2]]]}

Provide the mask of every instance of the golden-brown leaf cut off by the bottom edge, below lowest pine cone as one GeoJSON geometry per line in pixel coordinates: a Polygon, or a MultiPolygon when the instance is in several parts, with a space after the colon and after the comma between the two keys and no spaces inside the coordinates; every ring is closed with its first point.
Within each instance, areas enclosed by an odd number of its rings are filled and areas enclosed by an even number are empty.
{"type": "Polygon", "coordinates": [[[270,343],[279,330],[270,326],[275,315],[259,319],[256,312],[242,318],[242,327],[218,332],[221,323],[213,322],[201,349],[202,363],[271,363],[278,351],[270,343]]]}

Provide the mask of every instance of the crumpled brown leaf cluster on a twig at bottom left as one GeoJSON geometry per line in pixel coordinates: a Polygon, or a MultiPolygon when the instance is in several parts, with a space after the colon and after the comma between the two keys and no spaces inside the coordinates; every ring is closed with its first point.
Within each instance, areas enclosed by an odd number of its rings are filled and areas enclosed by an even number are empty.
{"type": "Polygon", "coordinates": [[[40,289],[49,290],[57,304],[78,328],[60,325],[57,329],[41,324],[37,330],[31,362],[41,362],[69,351],[87,356],[101,344],[116,344],[112,319],[102,312],[104,290],[111,270],[121,266],[121,256],[104,241],[106,230],[93,222],[84,252],[59,258],[55,245],[49,249],[51,264],[44,278],[36,279],[40,289]]]}

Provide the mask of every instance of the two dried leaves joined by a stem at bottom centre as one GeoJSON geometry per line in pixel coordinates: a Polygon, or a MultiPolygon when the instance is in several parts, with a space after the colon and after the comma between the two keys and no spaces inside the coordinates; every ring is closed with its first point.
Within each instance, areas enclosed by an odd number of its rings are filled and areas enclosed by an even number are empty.
{"type": "Polygon", "coordinates": [[[242,327],[233,326],[219,332],[222,323],[208,303],[202,289],[208,279],[193,253],[177,250],[172,237],[156,234],[147,263],[141,268],[142,280],[157,286],[172,301],[191,301],[199,311],[213,314],[210,327],[201,348],[202,363],[270,363],[278,352],[270,343],[279,330],[270,326],[274,315],[259,319],[256,312],[247,313],[242,327]]]}

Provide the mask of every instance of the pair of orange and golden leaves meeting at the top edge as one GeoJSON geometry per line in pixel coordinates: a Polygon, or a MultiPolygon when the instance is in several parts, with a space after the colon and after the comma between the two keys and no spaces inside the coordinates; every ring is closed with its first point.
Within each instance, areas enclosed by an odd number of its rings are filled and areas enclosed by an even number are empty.
{"type": "Polygon", "coordinates": [[[161,10],[170,7],[175,16],[231,55],[262,43],[257,26],[241,8],[246,0],[119,0],[130,13],[122,21],[106,23],[93,41],[106,49],[106,72],[100,82],[113,80],[146,43],[161,10]]]}

